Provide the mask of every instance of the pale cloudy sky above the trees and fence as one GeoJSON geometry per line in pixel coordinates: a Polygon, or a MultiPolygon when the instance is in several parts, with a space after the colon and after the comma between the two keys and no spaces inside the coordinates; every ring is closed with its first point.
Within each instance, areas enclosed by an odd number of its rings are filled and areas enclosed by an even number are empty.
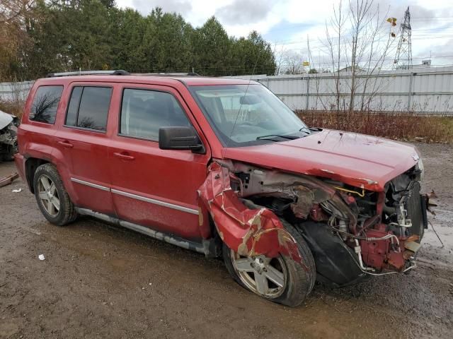
{"type": "MultiPolygon", "coordinates": [[[[306,53],[309,36],[312,54],[321,56],[326,39],[326,20],[333,15],[332,0],[116,0],[146,15],[160,6],[176,11],[197,27],[216,16],[229,35],[246,36],[257,30],[276,51],[306,53]]],[[[343,1],[344,2],[344,1],[343,1]]],[[[413,64],[432,56],[432,64],[453,64],[452,0],[374,1],[382,15],[398,18],[398,27],[407,6],[411,8],[413,64]]],[[[325,49],[324,49],[325,50],[325,49]]],[[[322,59],[322,57],[320,57],[322,59]]],[[[319,61],[321,62],[321,61],[319,61]]]]}

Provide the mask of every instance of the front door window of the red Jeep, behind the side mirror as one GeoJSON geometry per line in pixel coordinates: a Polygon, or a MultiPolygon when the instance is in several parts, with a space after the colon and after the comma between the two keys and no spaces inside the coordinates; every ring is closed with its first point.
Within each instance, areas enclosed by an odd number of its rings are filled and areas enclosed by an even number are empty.
{"type": "Polygon", "coordinates": [[[132,88],[123,91],[120,134],[157,141],[164,126],[191,126],[173,95],[132,88]]]}

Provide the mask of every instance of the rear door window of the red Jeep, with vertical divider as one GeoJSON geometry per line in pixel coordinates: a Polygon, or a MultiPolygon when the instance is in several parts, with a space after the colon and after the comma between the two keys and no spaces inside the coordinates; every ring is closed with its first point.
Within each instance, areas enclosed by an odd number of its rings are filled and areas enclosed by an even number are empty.
{"type": "Polygon", "coordinates": [[[105,131],[111,97],[110,87],[74,87],[64,124],[105,131]]]}

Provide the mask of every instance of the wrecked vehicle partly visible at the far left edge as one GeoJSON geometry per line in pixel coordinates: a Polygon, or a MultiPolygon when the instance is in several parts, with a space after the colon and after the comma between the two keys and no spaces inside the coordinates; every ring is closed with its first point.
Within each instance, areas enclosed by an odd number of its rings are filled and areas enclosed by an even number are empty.
{"type": "Polygon", "coordinates": [[[11,161],[17,153],[18,125],[18,117],[0,111],[0,161],[11,161]]]}

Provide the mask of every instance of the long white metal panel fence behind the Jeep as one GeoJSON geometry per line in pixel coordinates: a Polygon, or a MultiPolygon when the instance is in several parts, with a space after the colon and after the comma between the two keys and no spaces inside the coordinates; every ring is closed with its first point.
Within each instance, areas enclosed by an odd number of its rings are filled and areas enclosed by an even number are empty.
{"type": "MultiPolygon", "coordinates": [[[[352,76],[348,71],[340,72],[340,76],[319,73],[234,78],[252,78],[263,83],[292,109],[335,109],[338,98],[341,108],[348,109],[350,105],[352,76]]],[[[453,115],[452,67],[361,71],[355,81],[355,109],[453,115]]],[[[33,81],[0,83],[0,100],[24,100],[32,85],[33,81]]]]}

